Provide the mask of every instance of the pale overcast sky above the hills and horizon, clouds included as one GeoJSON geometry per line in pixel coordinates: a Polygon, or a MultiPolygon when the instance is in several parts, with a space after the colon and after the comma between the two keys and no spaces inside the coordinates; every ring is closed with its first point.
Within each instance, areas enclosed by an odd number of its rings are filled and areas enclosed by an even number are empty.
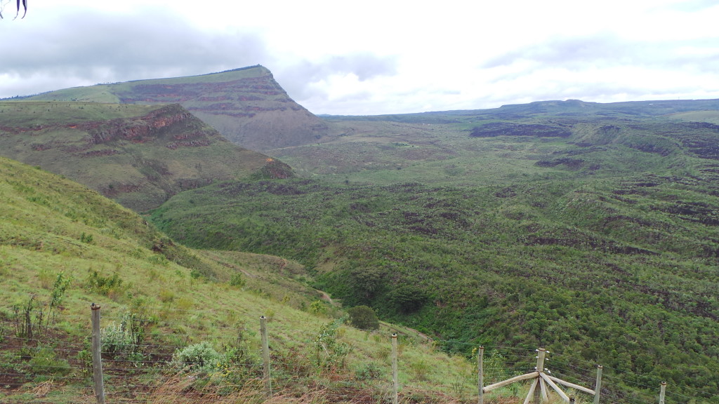
{"type": "Polygon", "coordinates": [[[719,98],[715,0],[0,2],[0,98],[257,64],[315,114],[719,98]]]}

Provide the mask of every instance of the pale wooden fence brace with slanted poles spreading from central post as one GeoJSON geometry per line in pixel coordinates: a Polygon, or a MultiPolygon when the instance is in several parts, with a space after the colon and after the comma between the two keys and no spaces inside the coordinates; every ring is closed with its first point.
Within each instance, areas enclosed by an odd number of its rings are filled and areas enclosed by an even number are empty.
{"type": "Polygon", "coordinates": [[[562,398],[562,400],[566,401],[567,403],[573,402],[573,399],[570,399],[569,396],[562,391],[561,388],[559,388],[558,385],[564,385],[567,387],[572,387],[575,390],[579,390],[582,392],[586,392],[587,394],[594,396],[594,404],[599,404],[599,391],[602,388],[602,366],[597,366],[597,385],[595,386],[594,390],[588,389],[587,387],[582,387],[580,385],[575,385],[574,383],[565,382],[564,380],[559,379],[558,377],[554,377],[549,375],[546,372],[549,372],[548,369],[544,368],[544,359],[546,358],[546,354],[549,352],[544,348],[539,348],[536,350],[538,352],[537,354],[537,366],[536,371],[527,373],[526,375],[520,375],[516,377],[512,377],[507,380],[503,380],[501,382],[495,383],[493,385],[488,385],[486,387],[482,387],[483,383],[483,374],[482,374],[482,355],[484,354],[484,346],[480,346],[480,354],[479,354],[479,385],[480,385],[480,400],[479,404],[484,403],[484,393],[490,392],[498,387],[502,387],[505,385],[510,385],[513,382],[519,382],[521,380],[531,380],[534,379],[531,386],[529,387],[529,392],[527,393],[527,397],[524,399],[524,404],[528,404],[532,398],[534,398],[534,403],[539,404],[541,401],[549,401],[549,395],[548,395],[548,388],[546,387],[549,385],[554,391],[557,392],[559,397],[562,398]]]}

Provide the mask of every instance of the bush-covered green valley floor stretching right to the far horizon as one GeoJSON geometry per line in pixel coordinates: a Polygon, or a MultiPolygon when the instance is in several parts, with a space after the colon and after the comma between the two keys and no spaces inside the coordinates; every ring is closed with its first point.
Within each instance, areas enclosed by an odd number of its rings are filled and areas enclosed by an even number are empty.
{"type": "Polygon", "coordinates": [[[692,112],[715,104],[330,117],[336,139],[273,151],[305,178],[189,190],[151,220],[298,260],[449,351],[547,346],[716,400],[719,127],[692,112]]]}

